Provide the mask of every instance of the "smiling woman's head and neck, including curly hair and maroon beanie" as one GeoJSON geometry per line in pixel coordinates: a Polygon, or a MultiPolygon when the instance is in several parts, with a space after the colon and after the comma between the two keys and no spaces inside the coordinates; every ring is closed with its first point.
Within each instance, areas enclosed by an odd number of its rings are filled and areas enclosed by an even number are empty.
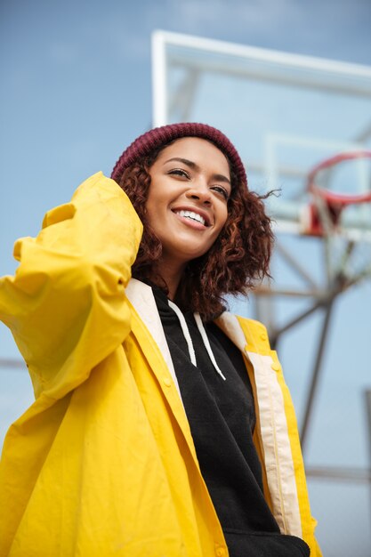
{"type": "Polygon", "coordinates": [[[224,310],[223,295],[244,293],[268,274],[270,219],[262,198],[247,189],[237,150],[218,130],[200,124],[151,130],[125,150],[112,178],[144,224],[133,277],[162,284],[181,309],[198,311],[206,319],[216,317],[224,310]],[[177,193],[177,198],[171,197],[177,193]],[[191,210],[205,223],[190,222],[178,209],[191,210]],[[168,214],[174,210],[181,223],[168,214]],[[175,246],[178,241],[181,250],[175,246]],[[167,249],[172,249],[171,258],[166,257],[167,249]]]}

